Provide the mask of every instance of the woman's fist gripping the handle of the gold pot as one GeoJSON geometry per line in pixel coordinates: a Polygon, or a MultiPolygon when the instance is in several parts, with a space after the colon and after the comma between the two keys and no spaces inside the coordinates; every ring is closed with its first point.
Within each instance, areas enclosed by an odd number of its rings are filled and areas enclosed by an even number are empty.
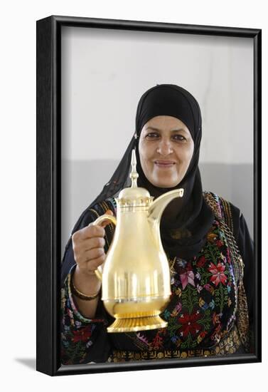
{"type": "MultiPolygon", "coordinates": [[[[106,214],[113,215],[111,210],[108,210],[106,214]]],[[[75,262],[79,271],[85,276],[95,275],[95,269],[104,263],[106,257],[104,227],[109,223],[109,220],[104,220],[101,225],[89,225],[72,236],[75,262]]]]}

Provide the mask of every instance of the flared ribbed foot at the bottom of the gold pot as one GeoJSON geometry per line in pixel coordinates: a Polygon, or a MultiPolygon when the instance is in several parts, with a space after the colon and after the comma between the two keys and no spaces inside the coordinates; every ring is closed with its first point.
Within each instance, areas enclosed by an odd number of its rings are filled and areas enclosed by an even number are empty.
{"type": "Polygon", "coordinates": [[[148,329],[165,328],[168,325],[160,316],[144,316],[129,319],[116,319],[108,326],[108,332],[136,332],[148,329]]]}

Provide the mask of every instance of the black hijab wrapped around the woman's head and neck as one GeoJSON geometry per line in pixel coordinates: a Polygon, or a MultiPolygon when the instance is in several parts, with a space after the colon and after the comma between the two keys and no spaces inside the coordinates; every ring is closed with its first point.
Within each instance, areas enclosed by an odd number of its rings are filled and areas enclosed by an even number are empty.
{"type": "Polygon", "coordinates": [[[184,88],[173,84],[156,85],[146,91],[139,100],[136,111],[136,133],[132,137],[124,156],[111,180],[104,185],[100,195],[92,202],[100,202],[115,196],[129,182],[129,167],[132,149],[136,149],[138,185],[149,190],[151,196],[158,197],[164,192],[183,187],[182,199],[174,199],[166,210],[172,212],[172,220],[161,219],[161,240],[169,257],[189,259],[200,252],[205,244],[214,215],[203,197],[202,183],[198,169],[202,119],[195,98],[184,88]],[[155,187],[147,180],[139,160],[139,135],[144,124],[157,115],[171,115],[186,124],[194,142],[193,157],[183,180],[172,188],[155,187]],[[135,137],[136,135],[136,137],[135,137]]]}

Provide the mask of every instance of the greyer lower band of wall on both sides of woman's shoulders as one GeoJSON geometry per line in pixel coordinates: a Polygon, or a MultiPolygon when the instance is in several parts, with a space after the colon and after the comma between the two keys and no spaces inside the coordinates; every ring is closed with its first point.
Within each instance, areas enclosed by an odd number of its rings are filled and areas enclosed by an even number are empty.
{"type": "MultiPolygon", "coordinates": [[[[99,195],[118,165],[116,160],[62,161],[62,254],[78,217],[99,195]]],[[[253,165],[200,163],[203,190],[240,208],[253,238],[253,165]]]]}

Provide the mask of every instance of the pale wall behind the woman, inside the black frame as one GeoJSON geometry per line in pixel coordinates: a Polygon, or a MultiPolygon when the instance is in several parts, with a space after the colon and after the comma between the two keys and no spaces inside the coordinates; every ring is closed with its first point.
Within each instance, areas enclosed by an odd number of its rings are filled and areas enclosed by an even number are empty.
{"type": "Polygon", "coordinates": [[[203,189],[240,207],[253,237],[253,39],[65,27],[62,251],[124,155],[142,93],[174,83],[203,114],[203,189]]]}

